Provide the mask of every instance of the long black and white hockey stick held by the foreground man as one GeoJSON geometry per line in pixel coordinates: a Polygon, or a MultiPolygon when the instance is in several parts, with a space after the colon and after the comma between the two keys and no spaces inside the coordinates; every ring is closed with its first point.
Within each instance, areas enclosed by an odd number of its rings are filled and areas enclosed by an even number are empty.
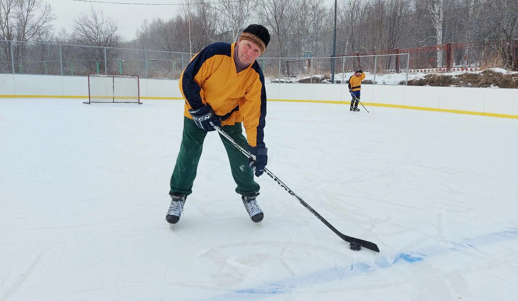
{"type": "MultiPolygon", "coordinates": [[[[252,160],[255,160],[254,155],[250,154],[247,150],[243,149],[239,144],[237,144],[237,142],[234,141],[234,139],[232,139],[231,136],[228,136],[227,133],[225,133],[225,132],[223,132],[223,130],[221,130],[221,127],[214,125],[214,128],[221,135],[223,135],[225,138],[227,138],[228,141],[230,141],[244,155],[251,158],[252,160]]],[[[367,248],[367,249],[375,251],[375,252],[380,252],[380,249],[378,248],[376,243],[373,243],[373,242],[370,242],[367,240],[363,240],[363,239],[359,239],[359,238],[355,238],[355,237],[351,237],[351,236],[347,236],[347,235],[340,233],[338,230],[336,230],[335,227],[333,227],[333,225],[331,225],[318,212],[316,212],[315,209],[311,208],[311,206],[309,206],[306,202],[304,202],[304,200],[302,198],[300,198],[300,196],[298,196],[295,192],[293,192],[290,188],[288,188],[286,186],[286,184],[284,184],[279,178],[277,178],[274,174],[272,174],[271,171],[269,171],[267,168],[265,168],[264,171],[268,176],[270,176],[270,178],[272,178],[277,184],[279,184],[280,187],[284,188],[285,191],[287,191],[294,198],[296,198],[300,202],[300,204],[302,204],[304,207],[306,207],[306,209],[308,209],[309,212],[313,213],[313,215],[315,217],[317,217],[321,222],[323,222],[336,235],[340,236],[341,239],[349,242],[351,250],[358,251],[361,249],[361,247],[364,247],[364,248],[367,248]]]]}

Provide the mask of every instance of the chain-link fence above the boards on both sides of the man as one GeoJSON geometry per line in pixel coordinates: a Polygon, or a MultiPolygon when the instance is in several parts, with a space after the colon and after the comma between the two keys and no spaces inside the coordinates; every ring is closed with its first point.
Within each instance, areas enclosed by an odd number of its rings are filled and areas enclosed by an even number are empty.
{"type": "MultiPolygon", "coordinates": [[[[192,55],[159,50],[0,40],[0,73],[66,76],[108,73],[179,79],[192,55]]],[[[367,75],[365,83],[407,84],[410,55],[258,58],[257,62],[267,82],[346,83],[355,69],[363,69],[367,75]],[[398,76],[392,76],[391,80],[379,80],[396,74],[398,76]]]]}

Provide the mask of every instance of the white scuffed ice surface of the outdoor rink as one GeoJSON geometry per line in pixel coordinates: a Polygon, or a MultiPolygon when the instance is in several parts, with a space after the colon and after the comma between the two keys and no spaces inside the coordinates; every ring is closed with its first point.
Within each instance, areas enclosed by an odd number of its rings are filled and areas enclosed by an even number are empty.
{"type": "Polygon", "coordinates": [[[0,300],[514,300],[518,121],[269,102],[253,223],[209,133],[165,221],[182,101],[0,99],[0,300]]]}

